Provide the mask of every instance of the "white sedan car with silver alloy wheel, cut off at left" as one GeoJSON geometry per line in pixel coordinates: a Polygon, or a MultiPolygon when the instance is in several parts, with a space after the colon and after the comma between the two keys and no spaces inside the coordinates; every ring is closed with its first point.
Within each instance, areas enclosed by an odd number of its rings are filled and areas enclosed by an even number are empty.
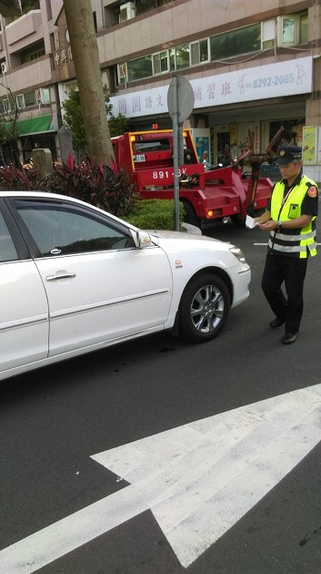
{"type": "Polygon", "coordinates": [[[230,243],[0,191],[0,380],[165,329],[209,341],[246,301],[250,276],[230,243]]]}

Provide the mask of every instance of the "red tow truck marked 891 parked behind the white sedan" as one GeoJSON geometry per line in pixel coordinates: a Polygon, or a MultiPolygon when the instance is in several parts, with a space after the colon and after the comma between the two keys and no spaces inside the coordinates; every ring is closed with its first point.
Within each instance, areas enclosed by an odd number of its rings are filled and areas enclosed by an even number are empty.
{"type": "MultiPolygon", "coordinates": [[[[184,130],[185,162],[179,167],[179,200],[184,203],[186,221],[202,228],[230,217],[241,225],[246,214],[255,216],[266,208],[273,183],[259,175],[262,162],[274,159],[272,142],[266,154],[257,155],[253,153],[250,129],[249,136],[249,146],[239,158],[232,159],[226,149],[229,165],[206,169],[198,159],[191,131],[184,130]],[[245,159],[252,169],[247,177],[243,174],[245,159]]],[[[142,199],[174,198],[172,130],[128,132],[112,138],[112,142],[115,170],[125,169],[130,174],[142,199]]]]}

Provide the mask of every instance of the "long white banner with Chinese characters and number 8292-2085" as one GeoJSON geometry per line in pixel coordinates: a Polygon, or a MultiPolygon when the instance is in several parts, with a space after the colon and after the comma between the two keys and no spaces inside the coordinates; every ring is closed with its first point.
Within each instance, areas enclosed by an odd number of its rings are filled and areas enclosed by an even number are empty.
{"type": "MultiPolygon", "coordinates": [[[[308,94],[312,91],[312,63],[312,56],[307,56],[190,80],[195,94],[195,109],[308,94]]],[[[126,118],[168,113],[168,87],[153,87],[111,97],[113,113],[115,116],[123,114],[126,118]]]]}

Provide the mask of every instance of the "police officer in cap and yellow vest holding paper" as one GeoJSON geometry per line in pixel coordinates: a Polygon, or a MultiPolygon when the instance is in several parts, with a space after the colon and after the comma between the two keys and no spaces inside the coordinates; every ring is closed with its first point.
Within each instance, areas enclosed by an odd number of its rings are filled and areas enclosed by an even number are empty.
{"type": "Polygon", "coordinates": [[[270,327],[285,324],[282,343],[291,344],[296,341],[303,313],[307,260],[316,255],[318,190],[316,183],[303,175],[301,148],[282,146],[276,163],[282,179],[275,184],[265,213],[255,221],[269,231],[262,289],[276,314],[270,327]]]}

